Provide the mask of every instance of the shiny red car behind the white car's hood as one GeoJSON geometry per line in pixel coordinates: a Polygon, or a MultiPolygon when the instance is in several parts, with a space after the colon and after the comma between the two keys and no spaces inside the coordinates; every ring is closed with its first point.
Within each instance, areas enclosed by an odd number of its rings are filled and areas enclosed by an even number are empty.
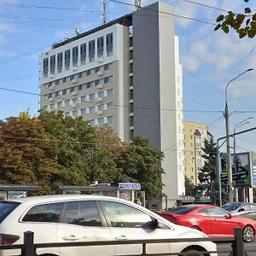
{"type": "Polygon", "coordinates": [[[233,236],[235,227],[241,227],[243,236],[255,236],[253,219],[233,216],[220,207],[188,205],[157,213],[174,224],[201,230],[210,237],[233,236]]]}

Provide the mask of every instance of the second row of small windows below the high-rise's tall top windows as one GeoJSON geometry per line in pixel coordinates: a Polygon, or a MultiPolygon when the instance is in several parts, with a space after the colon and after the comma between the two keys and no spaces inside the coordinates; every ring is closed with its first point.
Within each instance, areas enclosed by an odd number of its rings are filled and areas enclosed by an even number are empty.
{"type": "Polygon", "coordinates": [[[43,100],[46,101],[53,97],[63,96],[63,95],[67,95],[70,93],[73,93],[73,95],[75,95],[76,92],[79,90],[85,90],[85,89],[93,88],[96,86],[98,88],[100,88],[100,86],[102,86],[103,84],[108,84],[111,82],[113,82],[113,76],[109,76],[109,77],[106,77],[103,79],[96,79],[94,81],[90,81],[90,82],[87,82],[84,84],[75,85],[75,86],[69,87],[67,89],[56,90],[55,92],[50,92],[43,96],[43,100]]]}

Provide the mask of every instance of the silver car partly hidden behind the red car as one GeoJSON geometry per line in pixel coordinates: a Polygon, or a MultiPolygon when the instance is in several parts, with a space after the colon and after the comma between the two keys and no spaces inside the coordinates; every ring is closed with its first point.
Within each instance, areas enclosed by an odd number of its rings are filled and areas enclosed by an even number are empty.
{"type": "Polygon", "coordinates": [[[246,218],[256,220],[256,204],[247,202],[232,202],[224,205],[224,210],[232,213],[232,215],[240,215],[246,218]]]}

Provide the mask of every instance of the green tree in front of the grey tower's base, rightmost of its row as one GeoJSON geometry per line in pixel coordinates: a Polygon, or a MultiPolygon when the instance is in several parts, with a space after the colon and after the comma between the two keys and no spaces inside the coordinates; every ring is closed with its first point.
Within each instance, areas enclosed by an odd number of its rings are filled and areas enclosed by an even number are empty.
{"type": "Polygon", "coordinates": [[[161,194],[164,173],[160,161],[164,154],[153,148],[148,139],[134,137],[130,145],[126,145],[117,160],[119,167],[119,182],[141,183],[148,201],[161,194]]]}

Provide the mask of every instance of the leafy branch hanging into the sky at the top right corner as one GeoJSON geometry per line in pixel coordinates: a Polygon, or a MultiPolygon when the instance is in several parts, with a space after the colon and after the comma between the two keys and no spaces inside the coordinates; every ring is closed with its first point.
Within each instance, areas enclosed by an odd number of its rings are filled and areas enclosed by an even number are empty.
{"type": "MultiPolygon", "coordinates": [[[[249,2],[249,0],[243,0],[249,2]]],[[[225,33],[230,32],[230,29],[234,29],[239,38],[254,38],[256,34],[256,13],[255,10],[249,7],[244,9],[244,14],[234,14],[229,11],[227,15],[219,15],[217,20],[218,25],[214,30],[221,28],[225,33]]]]}

